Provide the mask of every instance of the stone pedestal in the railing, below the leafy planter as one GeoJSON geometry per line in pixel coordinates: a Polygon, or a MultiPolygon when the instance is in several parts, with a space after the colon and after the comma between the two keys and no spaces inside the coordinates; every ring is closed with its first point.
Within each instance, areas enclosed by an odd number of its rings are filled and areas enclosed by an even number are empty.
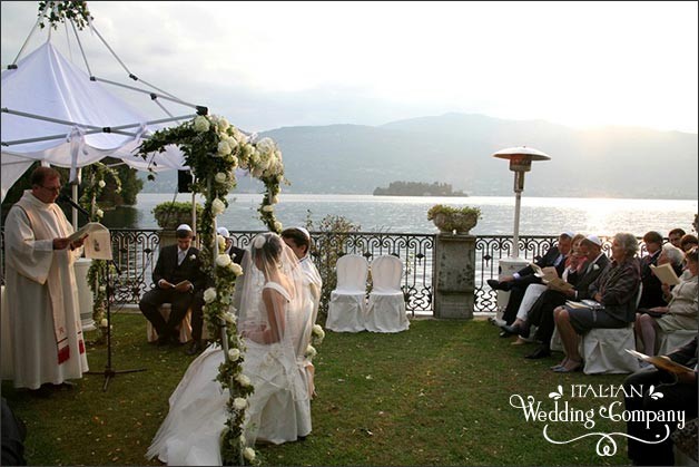
{"type": "Polygon", "coordinates": [[[435,257],[435,318],[473,319],[475,236],[439,234],[435,257]]]}

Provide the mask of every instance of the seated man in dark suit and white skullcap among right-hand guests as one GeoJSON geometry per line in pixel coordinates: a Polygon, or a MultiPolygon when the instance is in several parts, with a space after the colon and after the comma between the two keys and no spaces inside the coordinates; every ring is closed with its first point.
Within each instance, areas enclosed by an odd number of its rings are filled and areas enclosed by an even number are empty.
{"type": "Polygon", "coordinates": [[[542,359],[551,354],[551,338],[555,328],[553,323],[553,310],[565,303],[567,300],[585,300],[590,299],[590,285],[609,265],[609,259],[602,252],[602,241],[597,235],[588,235],[580,242],[580,253],[584,255],[585,262],[583,271],[577,274],[573,282],[573,290],[558,291],[548,290],[536,301],[532,308],[530,321],[536,325],[534,339],[541,342],[541,346],[533,353],[526,356],[528,359],[542,359]]]}

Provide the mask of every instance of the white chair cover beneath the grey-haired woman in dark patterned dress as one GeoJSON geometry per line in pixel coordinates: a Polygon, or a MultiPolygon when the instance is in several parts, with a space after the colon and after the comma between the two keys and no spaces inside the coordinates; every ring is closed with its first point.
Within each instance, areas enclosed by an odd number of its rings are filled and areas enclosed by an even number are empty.
{"type": "Polygon", "coordinates": [[[624,349],[636,350],[633,323],[626,328],[595,328],[582,337],[585,374],[631,373],[639,361],[624,349]]]}

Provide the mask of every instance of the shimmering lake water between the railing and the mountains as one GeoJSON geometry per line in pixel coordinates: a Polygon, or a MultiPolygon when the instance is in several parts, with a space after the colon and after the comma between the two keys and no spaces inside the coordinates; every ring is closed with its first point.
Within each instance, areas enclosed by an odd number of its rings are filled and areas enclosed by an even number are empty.
{"type": "MultiPolygon", "coordinates": [[[[474,235],[511,235],[514,224],[512,196],[372,196],[372,195],[303,195],[279,196],[276,212],[285,226],[304,225],[307,216],[317,224],[324,216],[341,215],[361,226],[363,232],[436,233],[427,210],[437,203],[453,206],[476,206],[482,211],[474,235]]],[[[197,197],[197,201],[201,201],[197,197]]],[[[230,206],[217,221],[230,231],[265,230],[257,217],[262,201],[258,194],[234,194],[230,206]]],[[[152,208],[166,201],[191,201],[191,194],[141,193],[138,204],[107,212],[108,227],[157,228],[152,208]]],[[[663,235],[675,227],[692,231],[697,213],[693,200],[618,200],[522,196],[520,235],[549,235],[562,231],[613,235],[631,232],[642,236],[654,230],[663,235]]]]}

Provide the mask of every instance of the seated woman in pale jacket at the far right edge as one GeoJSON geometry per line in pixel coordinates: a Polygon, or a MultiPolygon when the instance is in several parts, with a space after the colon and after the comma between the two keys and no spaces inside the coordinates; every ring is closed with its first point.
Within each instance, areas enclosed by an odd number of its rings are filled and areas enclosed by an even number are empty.
{"type": "Polygon", "coordinates": [[[658,330],[666,332],[679,330],[697,330],[697,249],[686,254],[689,276],[682,275],[680,283],[672,288],[670,303],[667,307],[656,307],[648,311],[661,313],[653,318],[648,313],[639,313],[636,318],[636,333],[641,337],[643,351],[649,356],[656,354],[656,334],[658,330]]]}

